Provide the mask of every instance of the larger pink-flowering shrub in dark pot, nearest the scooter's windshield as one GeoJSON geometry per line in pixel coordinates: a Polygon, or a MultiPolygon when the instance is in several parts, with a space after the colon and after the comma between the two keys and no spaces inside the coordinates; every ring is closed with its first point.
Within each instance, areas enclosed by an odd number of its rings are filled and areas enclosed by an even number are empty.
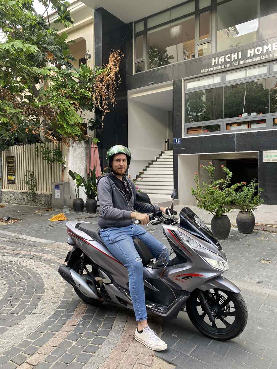
{"type": "Polygon", "coordinates": [[[226,173],[225,179],[214,179],[215,167],[209,162],[208,166],[200,165],[201,168],[207,170],[209,173],[210,183],[199,184],[198,173],[194,175],[196,189],[191,187],[191,193],[197,200],[197,206],[201,209],[213,214],[211,221],[212,232],[218,239],[228,238],[231,223],[225,213],[230,213],[232,208],[229,207],[232,200],[233,191],[239,187],[239,183],[230,186],[232,172],[224,165],[222,170],[226,173]]]}

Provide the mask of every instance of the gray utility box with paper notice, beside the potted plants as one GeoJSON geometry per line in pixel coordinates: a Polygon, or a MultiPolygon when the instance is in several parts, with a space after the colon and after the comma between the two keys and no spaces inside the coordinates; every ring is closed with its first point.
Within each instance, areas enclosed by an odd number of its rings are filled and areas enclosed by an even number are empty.
{"type": "Polygon", "coordinates": [[[68,211],[71,209],[70,182],[52,182],[52,209],[68,211]]]}

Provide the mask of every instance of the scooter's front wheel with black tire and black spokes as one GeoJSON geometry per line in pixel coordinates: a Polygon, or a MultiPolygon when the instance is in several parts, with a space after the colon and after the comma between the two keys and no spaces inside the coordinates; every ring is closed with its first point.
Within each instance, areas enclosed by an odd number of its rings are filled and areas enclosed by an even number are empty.
{"type": "Polygon", "coordinates": [[[202,334],[217,341],[227,341],[242,333],[247,323],[248,313],[240,293],[220,289],[204,291],[207,303],[215,310],[215,322],[212,324],[201,306],[198,291],[196,289],[191,293],[186,307],[191,323],[202,334]]]}

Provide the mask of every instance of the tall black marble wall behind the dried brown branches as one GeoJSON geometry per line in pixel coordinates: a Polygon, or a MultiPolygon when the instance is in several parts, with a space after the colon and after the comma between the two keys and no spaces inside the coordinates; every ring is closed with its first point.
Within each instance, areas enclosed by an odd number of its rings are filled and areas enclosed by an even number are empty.
{"type": "MultiPolygon", "coordinates": [[[[100,163],[102,169],[107,166],[106,154],[113,145],[128,146],[127,123],[127,68],[132,63],[132,25],[125,24],[103,8],[95,10],[95,65],[102,66],[109,61],[110,52],[121,50],[124,54],[120,63],[121,83],[116,93],[116,104],[110,105],[110,113],[103,120],[103,127],[96,130],[100,163]]],[[[96,119],[101,121],[102,113],[96,110],[96,119]]]]}

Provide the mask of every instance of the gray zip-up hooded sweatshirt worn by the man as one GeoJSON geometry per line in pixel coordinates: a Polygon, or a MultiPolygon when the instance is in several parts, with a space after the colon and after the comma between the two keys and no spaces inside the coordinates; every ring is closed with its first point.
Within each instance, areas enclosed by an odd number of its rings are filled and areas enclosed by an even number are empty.
{"type": "MultiPolygon", "coordinates": [[[[127,183],[131,189],[129,202],[124,192],[114,184],[107,173],[99,177],[96,183],[100,201],[98,225],[101,228],[127,227],[135,221],[135,219],[131,219],[132,211],[141,213],[151,213],[153,211],[153,207],[150,204],[142,204],[135,201],[137,195],[136,186],[130,178],[124,178],[128,181],[127,183]]],[[[159,207],[155,206],[155,209],[159,210],[159,207]]]]}

